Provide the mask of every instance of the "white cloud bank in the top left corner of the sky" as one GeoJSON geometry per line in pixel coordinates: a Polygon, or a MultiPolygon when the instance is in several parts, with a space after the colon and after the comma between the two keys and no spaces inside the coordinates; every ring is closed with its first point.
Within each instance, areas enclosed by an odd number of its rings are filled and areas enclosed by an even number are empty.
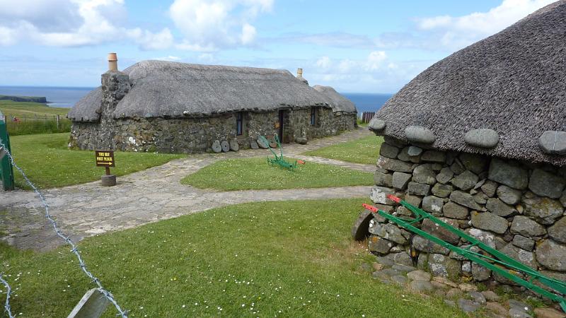
{"type": "Polygon", "coordinates": [[[124,0],[0,0],[0,45],[75,47],[132,40],[142,49],[164,49],[173,43],[168,28],[152,33],[114,22],[125,16],[124,0]]]}

